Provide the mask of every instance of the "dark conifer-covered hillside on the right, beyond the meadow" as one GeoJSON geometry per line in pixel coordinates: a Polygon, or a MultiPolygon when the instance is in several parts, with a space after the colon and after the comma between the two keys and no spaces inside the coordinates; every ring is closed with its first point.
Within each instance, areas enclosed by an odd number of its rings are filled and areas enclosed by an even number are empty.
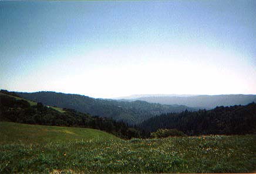
{"type": "Polygon", "coordinates": [[[187,135],[255,134],[256,104],[215,107],[213,110],[161,114],[144,121],[140,127],[147,131],[176,128],[187,135]]]}

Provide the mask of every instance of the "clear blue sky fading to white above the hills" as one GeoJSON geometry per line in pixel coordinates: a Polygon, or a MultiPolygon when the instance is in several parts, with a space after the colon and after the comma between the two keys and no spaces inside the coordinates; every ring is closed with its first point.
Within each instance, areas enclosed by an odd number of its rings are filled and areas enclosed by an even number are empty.
{"type": "Polygon", "coordinates": [[[0,1],[0,88],[256,94],[256,1],[0,1]]]}

